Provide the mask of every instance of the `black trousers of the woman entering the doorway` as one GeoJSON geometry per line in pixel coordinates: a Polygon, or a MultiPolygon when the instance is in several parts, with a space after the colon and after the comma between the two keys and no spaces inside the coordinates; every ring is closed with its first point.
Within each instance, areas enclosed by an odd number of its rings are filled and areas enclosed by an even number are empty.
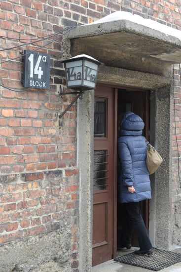
{"type": "MultiPolygon", "coordinates": [[[[145,227],[145,223],[142,218],[141,210],[140,210],[140,203],[139,202],[130,202],[126,203],[126,210],[130,218],[130,225],[126,227],[124,226],[124,235],[127,237],[127,241],[130,239],[128,238],[131,233],[131,228],[135,229],[135,232],[138,236],[139,245],[141,250],[148,250],[152,248],[152,244],[150,242],[147,229],[145,227]]],[[[126,223],[126,222],[125,222],[126,223]]],[[[130,237],[131,238],[131,237],[130,237]]]]}

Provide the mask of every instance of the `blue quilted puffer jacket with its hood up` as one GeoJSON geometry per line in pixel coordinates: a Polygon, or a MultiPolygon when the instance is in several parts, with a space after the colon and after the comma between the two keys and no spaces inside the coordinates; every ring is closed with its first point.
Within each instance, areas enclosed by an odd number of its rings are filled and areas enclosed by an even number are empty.
{"type": "Polygon", "coordinates": [[[118,152],[121,169],[118,181],[118,201],[139,202],[151,198],[149,173],[146,167],[146,143],[142,136],[142,118],[133,112],[126,112],[120,124],[118,152]],[[128,186],[136,192],[130,193],[128,186]]]}

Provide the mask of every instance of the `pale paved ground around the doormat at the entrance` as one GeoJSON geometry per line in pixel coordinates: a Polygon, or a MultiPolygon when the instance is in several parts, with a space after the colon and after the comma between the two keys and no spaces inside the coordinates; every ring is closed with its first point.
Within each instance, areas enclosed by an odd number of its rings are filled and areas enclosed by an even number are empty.
{"type": "MultiPolygon", "coordinates": [[[[132,248],[131,250],[126,250],[126,249],[119,250],[117,252],[117,256],[131,253],[137,249],[138,248],[132,248]]],[[[173,251],[181,253],[181,248],[175,249],[173,251]]],[[[110,260],[106,263],[93,267],[92,272],[153,272],[153,270],[147,270],[140,267],[129,266],[129,265],[121,264],[118,262],[114,262],[113,260],[110,260]]],[[[162,269],[160,270],[160,272],[181,272],[181,263],[175,264],[166,269],[162,269]]]]}

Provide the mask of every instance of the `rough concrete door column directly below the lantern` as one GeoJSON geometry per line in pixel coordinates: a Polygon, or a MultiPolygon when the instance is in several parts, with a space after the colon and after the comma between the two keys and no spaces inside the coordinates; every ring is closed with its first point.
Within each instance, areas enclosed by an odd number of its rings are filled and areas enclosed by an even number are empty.
{"type": "Polygon", "coordinates": [[[77,109],[77,165],[79,169],[79,270],[92,268],[92,210],[94,161],[94,91],[85,91],[77,109]]]}

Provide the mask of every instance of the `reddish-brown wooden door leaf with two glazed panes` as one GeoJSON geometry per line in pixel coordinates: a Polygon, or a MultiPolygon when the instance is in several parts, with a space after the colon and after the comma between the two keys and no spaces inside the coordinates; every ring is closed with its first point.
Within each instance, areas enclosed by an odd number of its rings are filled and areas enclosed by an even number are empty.
{"type": "Polygon", "coordinates": [[[113,256],[114,88],[95,91],[93,266],[113,256]]]}

